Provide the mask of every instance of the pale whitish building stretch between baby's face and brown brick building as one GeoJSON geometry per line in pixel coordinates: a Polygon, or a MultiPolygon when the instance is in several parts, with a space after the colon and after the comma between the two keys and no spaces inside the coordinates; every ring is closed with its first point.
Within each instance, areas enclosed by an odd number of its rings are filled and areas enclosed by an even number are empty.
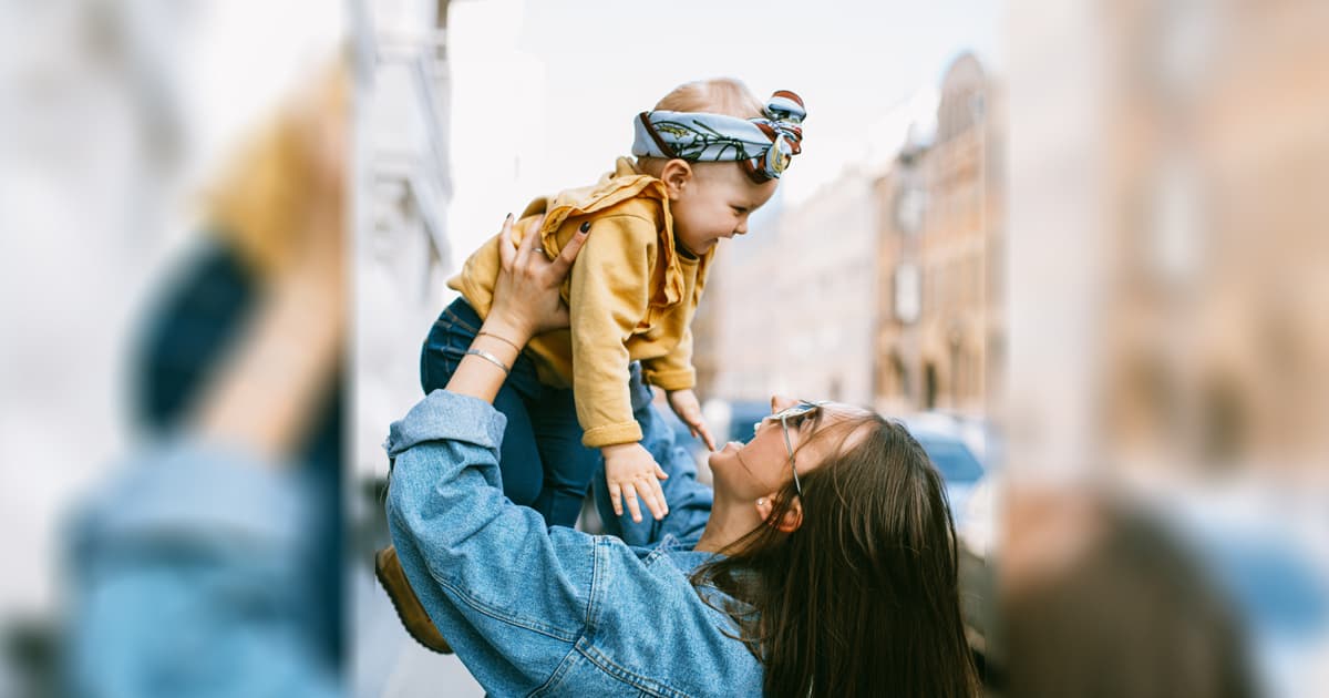
{"type": "Polygon", "coordinates": [[[696,336],[698,392],[872,403],[876,323],[870,177],[845,170],[796,206],[776,194],[720,249],[696,336]]]}

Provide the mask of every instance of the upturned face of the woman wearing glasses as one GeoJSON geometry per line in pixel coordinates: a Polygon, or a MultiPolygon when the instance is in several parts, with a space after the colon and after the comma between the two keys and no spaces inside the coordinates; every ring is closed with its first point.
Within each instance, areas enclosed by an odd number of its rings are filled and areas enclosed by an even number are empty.
{"type": "MultiPolygon", "coordinates": [[[[799,400],[776,395],[771,398],[771,413],[797,404],[799,400]]],[[[724,448],[711,453],[710,465],[715,489],[736,499],[751,500],[775,495],[793,480],[795,469],[801,477],[820,467],[832,449],[840,448],[839,439],[817,439],[819,433],[840,421],[865,413],[867,411],[847,404],[823,404],[816,411],[787,420],[788,445],[784,441],[785,428],[780,420],[763,419],[751,441],[747,444],[730,441],[724,448]],[[789,459],[791,448],[795,452],[793,467],[789,459]]]]}

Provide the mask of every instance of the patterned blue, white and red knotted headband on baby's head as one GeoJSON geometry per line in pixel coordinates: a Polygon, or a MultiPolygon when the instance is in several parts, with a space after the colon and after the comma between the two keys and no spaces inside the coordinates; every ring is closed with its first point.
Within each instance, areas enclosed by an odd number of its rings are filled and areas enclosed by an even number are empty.
{"type": "Polygon", "coordinates": [[[776,179],[803,144],[803,100],[788,90],[771,96],[760,118],[704,112],[642,112],[633,154],[688,162],[739,162],[754,182],[776,179]]]}

